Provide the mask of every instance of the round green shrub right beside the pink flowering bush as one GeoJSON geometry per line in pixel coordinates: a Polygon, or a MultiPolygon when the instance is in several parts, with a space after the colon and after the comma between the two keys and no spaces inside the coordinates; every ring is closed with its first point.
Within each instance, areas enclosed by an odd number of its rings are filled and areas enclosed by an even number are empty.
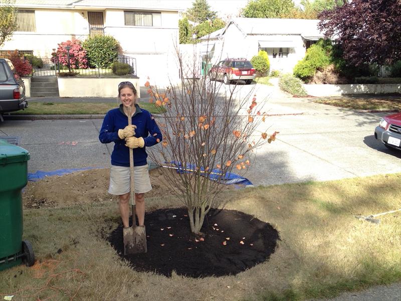
{"type": "Polygon", "coordinates": [[[83,43],[89,59],[89,66],[109,68],[117,60],[120,44],[112,36],[96,35],[83,43]]]}

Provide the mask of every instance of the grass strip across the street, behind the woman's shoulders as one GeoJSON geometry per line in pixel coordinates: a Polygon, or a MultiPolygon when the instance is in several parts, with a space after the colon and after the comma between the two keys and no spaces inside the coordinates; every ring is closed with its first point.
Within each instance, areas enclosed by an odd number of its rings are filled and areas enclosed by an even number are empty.
{"type": "MultiPolygon", "coordinates": [[[[89,102],[30,102],[29,107],[25,110],[12,112],[13,115],[58,115],[58,114],[105,114],[108,110],[119,106],[119,102],[115,103],[89,103],[89,102]]],[[[161,112],[160,107],[156,107],[152,103],[140,102],[139,106],[148,110],[152,114],[161,112]]]]}

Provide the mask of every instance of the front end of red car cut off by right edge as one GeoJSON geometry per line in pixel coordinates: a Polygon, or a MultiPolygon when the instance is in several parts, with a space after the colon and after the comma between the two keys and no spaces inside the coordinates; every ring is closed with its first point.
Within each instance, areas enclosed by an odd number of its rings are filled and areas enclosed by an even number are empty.
{"type": "Polygon", "coordinates": [[[401,150],[401,113],[381,118],[374,130],[374,137],[386,147],[401,150]]]}

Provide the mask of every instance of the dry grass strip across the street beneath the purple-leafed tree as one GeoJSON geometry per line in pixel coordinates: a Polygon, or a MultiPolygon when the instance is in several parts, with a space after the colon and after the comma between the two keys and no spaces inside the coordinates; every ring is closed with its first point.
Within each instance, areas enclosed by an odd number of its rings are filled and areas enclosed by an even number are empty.
{"type": "Polygon", "coordinates": [[[371,111],[401,111],[400,95],[352,95],[352,96],[336,96],[321,97],[313,99],[314,102],[334,105],[343,108],[351,108],[355,110],[371,110],[371,111]]]}

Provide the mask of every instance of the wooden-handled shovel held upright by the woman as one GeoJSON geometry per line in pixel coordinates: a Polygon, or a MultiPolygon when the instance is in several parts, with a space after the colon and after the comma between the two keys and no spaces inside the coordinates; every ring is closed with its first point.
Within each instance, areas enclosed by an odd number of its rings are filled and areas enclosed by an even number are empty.
{"type": "MultiPolygon", "coordinates": [[[[128,125],[131,125],[131,107],[128,107],[128,125]]],[[[129,203],[132,205],[132,227],[123,230],[124,240],[124,255],[146,253],[146,230],[145,226],[136,225],[135,216],[135,189],[134,189],[134,158],[132,154],[132,148],[129,148],[129,171],[130,171],[130,194],[129,203]]]]}

